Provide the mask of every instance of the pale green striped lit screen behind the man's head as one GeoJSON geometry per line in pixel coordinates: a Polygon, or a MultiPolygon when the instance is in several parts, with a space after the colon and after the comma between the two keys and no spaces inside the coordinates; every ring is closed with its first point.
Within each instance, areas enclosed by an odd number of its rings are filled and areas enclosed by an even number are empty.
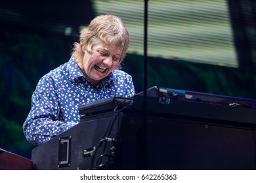
{"type": "MultiPolygon", "coordinates": [[[[144,54],[144,1],[93,1],[116,14],[131,35],[128,53],[144,54]]],[[[238,67],[225,0],[148,1],[148,56],[238,67]]]]}

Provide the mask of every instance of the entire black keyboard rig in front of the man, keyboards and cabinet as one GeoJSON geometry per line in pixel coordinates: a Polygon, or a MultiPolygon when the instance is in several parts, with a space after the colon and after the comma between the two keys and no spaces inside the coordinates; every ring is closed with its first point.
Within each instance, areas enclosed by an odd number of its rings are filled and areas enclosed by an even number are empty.
{"type": "Polygon", "coordinates": [[[255,100],[154,86],[145,123],[143,93],[79,107],[33,169],[255,169],[255,100]]]}

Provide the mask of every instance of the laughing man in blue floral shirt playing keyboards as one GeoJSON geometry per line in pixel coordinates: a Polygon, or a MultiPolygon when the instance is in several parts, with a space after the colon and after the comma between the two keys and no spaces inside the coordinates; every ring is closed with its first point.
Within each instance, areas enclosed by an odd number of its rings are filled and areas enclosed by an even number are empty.
{"type": "Polygon", "coordinates": [[[23,125],[26,139],[42,144],[78,124],[79,105],[113,95],[133,97],[132,77],[119,70],[128,48],[129,33],[120,18],[93,19],[81,30],[70,61],[39,80],[23,125]]]}

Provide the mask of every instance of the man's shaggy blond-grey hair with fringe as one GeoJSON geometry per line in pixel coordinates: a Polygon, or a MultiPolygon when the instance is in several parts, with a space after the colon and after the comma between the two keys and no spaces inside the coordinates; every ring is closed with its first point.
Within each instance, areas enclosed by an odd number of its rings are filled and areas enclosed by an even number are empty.
{"type": "Polygon", "coordinates": [[[121,18],[112,14],[96,16],[87,27],[81,29],[79,42],[74,42],[72,50],[77,63],[83,61],[83,47],[87,52],[91,52],[93,46],[99,42],[114,44],[121,50],[120,63],[123,61],[129,48],[130,39],[129,32],[121,18]]]}

